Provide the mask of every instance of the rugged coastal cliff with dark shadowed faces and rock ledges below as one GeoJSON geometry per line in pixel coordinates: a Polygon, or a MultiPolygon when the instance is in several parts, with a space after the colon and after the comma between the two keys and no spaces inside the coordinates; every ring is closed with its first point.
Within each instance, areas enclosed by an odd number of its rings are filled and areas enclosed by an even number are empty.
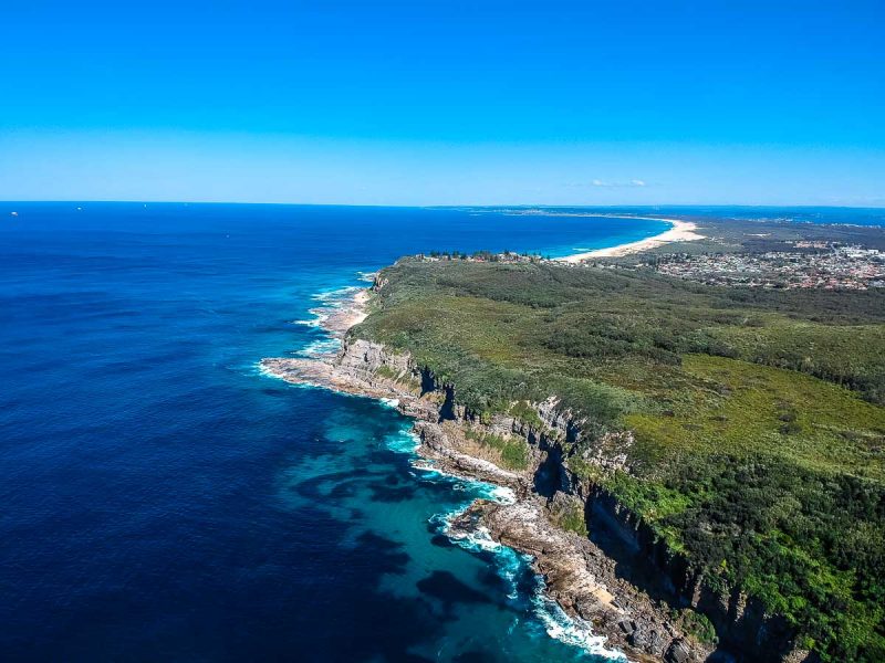
{"type": "Polygon", "coordinates": [[[794,646],[785,623],[736,590],[705,585],[636,514],[570,469],[577,461],[628,470],[628,432],[603,432],[554,398],[525,403],[519,417],[481,415],[457,403],[456,385],[409,354],[353,336],[327,361],[266,359],[262,367],[288,381],[395,400],[415,418],[418,453],[434,467],[511,487],[514,504],[477,501],[452,530],[485,527],[531,555],[551,598],[629,659],[812,660],[794,646]],[[699,628],[698,614],[715,635],[699,628]]]}

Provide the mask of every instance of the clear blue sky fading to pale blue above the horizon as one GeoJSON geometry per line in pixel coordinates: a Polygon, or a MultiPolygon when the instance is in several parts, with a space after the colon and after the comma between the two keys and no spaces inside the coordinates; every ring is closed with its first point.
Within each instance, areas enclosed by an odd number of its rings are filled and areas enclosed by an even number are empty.
{"type": "Polygon", "coordinates": [[[0,2],[0,199],[885,207],[885,2],[0,2]]]}

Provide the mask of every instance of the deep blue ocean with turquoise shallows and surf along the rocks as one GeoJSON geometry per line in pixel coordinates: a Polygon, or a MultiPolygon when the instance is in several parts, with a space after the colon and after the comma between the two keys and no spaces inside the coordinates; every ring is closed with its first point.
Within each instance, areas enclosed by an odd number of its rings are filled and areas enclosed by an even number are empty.
{"type": "Polygon", "coordinates": [[[322,343],[296,323],[399,255],[664,228],[0,203],[0,659],[592,660],[525,560],[445,536],[490,486],[416,471],[383,403],[256,364],[322,343]]]}

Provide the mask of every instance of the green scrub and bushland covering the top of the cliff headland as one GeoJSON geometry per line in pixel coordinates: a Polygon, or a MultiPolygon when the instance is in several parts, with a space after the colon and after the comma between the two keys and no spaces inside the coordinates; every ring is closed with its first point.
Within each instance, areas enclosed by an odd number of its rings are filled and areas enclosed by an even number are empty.
{"type": "Polygon", "coordinates": [[[528,403],[556,396],[589,435],[633,430],[629,472],[581,445],[569,466],[824,660],[885,659],[885,293],[543,262],[404,260],[384,276],[354,334],[409,350],[480,415],[539,427],[528,403]]]}

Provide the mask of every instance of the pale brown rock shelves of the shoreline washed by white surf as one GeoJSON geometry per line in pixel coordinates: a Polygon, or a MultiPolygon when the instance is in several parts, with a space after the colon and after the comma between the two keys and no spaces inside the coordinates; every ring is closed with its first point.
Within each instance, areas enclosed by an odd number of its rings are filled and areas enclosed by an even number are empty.
{"type": "MultiPolygon", "coordinates": [[[[356,293],[352,304],[334,319],[363,319],[368,299],[364,293],[356,293]]],[[[549,596],[570,617],[590,624],[595,635],[604,636],[606,648],[616,648],[631,660],[681,663],[708,659],[711,646],[683,632],[668,607],[626,581],[615,560],[587,536],[555,524],[563,513],[580,513],[583,518],[584,501],[575,494],[575,486],[539,491],[539,476],[559,454],[550,440],[511,418],[480,422],[455,406],[452,386],[436,383],[407,355],[346,337],[342,325],[329,332],[342,337],[342,349],[336,355],[263,359],[262,371],[292,383],[395,401],[403,414],[415,419],[414,430],[420,439],[416,451],[435,470],[507,486],[517,496],[512,504],[477,499],[452,519],[455,534],[485,527],[493,540],[530,555],[549,596]],[[528,467],[516,471],[499,466],[494,450],[477,442],[478,432],[524,440],[531,454],[528,467]]],[[[562,439],[574,434],[570,429],[575,422],[556,411],[555,401],[537,407],[549,431],[562,439]]],[[[569,482],[562,475],[550,480],[569,482]]]]}

